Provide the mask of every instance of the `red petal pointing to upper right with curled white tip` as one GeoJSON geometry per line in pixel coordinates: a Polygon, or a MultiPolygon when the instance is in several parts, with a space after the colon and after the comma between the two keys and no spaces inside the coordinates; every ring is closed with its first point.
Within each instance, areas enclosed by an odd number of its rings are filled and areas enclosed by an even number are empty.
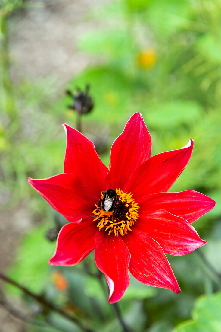
{"type": "Polygon", "coordinates": [[[126,189],[136,201],[167,191],[187,166],[193,152],[193,139],[182,149],[157,154],[144,161],[134,171],[126,189]]]}

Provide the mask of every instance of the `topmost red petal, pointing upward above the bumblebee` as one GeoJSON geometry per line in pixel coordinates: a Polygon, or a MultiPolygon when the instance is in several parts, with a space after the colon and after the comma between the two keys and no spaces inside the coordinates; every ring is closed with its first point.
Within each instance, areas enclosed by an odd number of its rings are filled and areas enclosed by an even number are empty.
{"type": "Polygon", "coordinates": [[[109,188],[124,187],[132,172],[151,154],[151,137],[141,114],[135,113],[112,147],[107,176],[109,188]]]}

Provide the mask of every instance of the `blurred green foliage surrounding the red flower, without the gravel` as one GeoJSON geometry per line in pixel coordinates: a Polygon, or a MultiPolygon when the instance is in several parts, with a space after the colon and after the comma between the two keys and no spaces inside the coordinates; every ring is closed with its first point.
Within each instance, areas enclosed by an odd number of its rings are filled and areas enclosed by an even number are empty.
{"type": "MultiPolygon", "coordinates": [[[[101,155],[107,166],[111,143],[135,112],[142,113],[150,131],[152,154],[181,148],[191,137],[195,140],[190,163],[171,191],[194,189],[216,200],[216,207],[194,226],[208,240],[202,249],[205,256],[221,273],[221,2],[111,1],[95,6],[88,18],[103,22],[105,28],[81,33],[77,45],[99,64],[85,68],[64,87],[74,91],[90,84],[95,107],[83,117],[83,133],[95,142],[107,143],[108,151],[101,155]]],[[[61,225],[65,220],[28,186],[27,176],[44,178],[62,172],[65,134],[60,124],[75,126],[76,117],[68,111],[70,97],[58,97],[56,89],[56,81],[49,76],[36,82],[27,78],[13,91],[21,111],[13,118],[11,109],[3,108],[7,121],[0,125],[1,182],[9,198],[5,205],[28,202],[33,219],[42,220],[22,240],[9,273],[60,305],[72,306],[97,330],[120,331],[107,295],[102,294],[97,279],[86,275],[83,262],[73,268],[47,265],[55,243],[46,241],[45,230],[54,219],[60,218],[61,225]],[[68,281],[64,292],[53,285],[55,270],[68,281]]],[[[219,281],[195,253],[168,258],[182,293],[149,288],[132,278],[121,300],[128,324],[135,331],[171,332],[177,324],[177,332],[219,331],[220,293],[211,294],[220,289],[219,281]],[[186,322],[194,305],[193,321],[186,322]]],[[[93,254],[85,264],[95,269],[93,254]]],[[[47,318],[73,331],[56,315],[47,318]]],[[[28,331],[39,330],[31,326],[28,331]]]]}

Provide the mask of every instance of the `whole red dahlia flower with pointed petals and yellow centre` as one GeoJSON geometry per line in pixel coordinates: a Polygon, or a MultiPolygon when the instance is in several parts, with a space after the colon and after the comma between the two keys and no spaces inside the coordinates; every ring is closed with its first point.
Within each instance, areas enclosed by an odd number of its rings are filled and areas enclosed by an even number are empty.
{"type": "Polygon", "coordinates": [[[167,193],[190,160],[193,139],[150,157],[150,134],[136,113],[114,141],[107,169],[89,139],[67,124],[64,129],[64,173],[28,179],[69,221],[49,264],[72,266],[94,249],[110,303],[128,288],[128,270],[145,285],[180,292],[165,253],[185,255],[204,245],[191,224],[215,205],[193,190],[167,193]]]}

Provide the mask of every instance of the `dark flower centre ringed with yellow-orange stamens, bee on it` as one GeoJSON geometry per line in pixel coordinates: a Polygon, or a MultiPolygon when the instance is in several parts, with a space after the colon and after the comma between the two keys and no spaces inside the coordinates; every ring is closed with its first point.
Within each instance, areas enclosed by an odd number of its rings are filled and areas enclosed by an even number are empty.
{"type": "Polygon", "coordinates": [[[92,214],[95,216],[93,221],[97,222],[99,231],[104,228],[110,235],[113,231],[116,236],[127,234],[128,230],[137,220],[138,205],[132,198],[133,194],[124,193],[117,188],[116,191],[108,189],[101,192],[101,199],[95,204],[95,210],[92,214]]]}

